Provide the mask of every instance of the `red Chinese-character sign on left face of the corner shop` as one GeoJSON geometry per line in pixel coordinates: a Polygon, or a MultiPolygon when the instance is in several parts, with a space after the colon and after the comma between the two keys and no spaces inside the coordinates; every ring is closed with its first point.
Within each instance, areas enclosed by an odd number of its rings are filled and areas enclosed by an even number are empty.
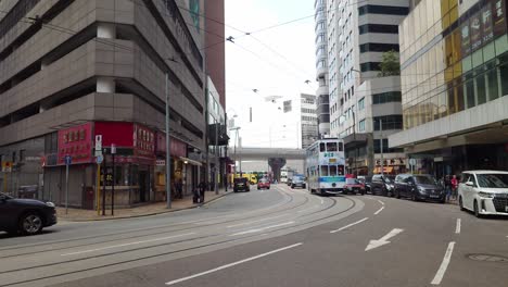
{"type": "Polygon", "coordinates": [[[65,157],[72,158],[72,163],[92,162],[92,124],[74,126],[59,130],[58,164],[65,164],[65,157]]]}

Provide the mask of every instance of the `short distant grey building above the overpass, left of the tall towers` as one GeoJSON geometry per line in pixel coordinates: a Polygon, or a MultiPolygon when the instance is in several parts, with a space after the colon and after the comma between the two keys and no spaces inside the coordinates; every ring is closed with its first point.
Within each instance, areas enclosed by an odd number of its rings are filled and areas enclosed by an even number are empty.
{"type": "Polygon", "coordinates": [[[319,137],[316,96],[301,93],[300,101],[300,135],[302,149],[306,149],[319,137]]]}

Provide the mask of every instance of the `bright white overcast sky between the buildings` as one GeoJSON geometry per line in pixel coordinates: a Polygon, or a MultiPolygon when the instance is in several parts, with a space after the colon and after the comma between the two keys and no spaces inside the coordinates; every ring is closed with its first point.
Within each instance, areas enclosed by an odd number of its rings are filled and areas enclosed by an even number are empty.
{"type": "Polygon", "coordinates": [[[226,42],[226,112],[238,115],[243,147],[296,148],[294,101],[317,88],[312,15],[314,0],[226,0],[226,38],[234,38],[226,42]],[[271,96],[281,98],[265,100],[271,96]],[[278,110],[284,100],[293,100],[293,113],[278,110]]]}

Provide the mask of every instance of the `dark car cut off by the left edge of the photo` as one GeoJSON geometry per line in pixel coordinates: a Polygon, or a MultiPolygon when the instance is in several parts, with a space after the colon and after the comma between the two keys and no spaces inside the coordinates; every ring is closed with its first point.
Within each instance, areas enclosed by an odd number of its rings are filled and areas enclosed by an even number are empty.
{"type": "Polygon", "coordinates": [[[51,202],[17,199],[0,192],[0,232],[34,235],[56,224],[56,211],[51,202]]]}

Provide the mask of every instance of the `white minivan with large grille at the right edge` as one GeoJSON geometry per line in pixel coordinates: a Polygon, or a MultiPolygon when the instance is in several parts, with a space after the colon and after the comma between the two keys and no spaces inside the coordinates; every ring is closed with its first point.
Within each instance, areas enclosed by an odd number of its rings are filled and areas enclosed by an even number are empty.
{"type": "Polygon", "coordinates": [[[481,215],[508,215],[508,172],[463,172],[458,187],[460,210],[481,215]]]}

